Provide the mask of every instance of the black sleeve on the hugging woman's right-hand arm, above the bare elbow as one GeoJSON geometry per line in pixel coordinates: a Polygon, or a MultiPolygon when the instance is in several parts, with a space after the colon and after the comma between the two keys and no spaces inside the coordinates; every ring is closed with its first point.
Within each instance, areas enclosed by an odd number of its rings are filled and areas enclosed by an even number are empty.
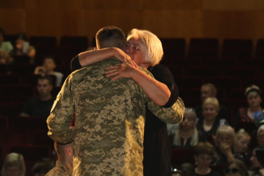
{"type": "Polygon", "coordinates": [[[150,68],[149,71],[157,81],[168,86],[169,90],[171,91],[171,96],[169,97],[168,102],[162,107],[171,107],[177,101],[179,96],[178,87],[174,81],[171,71],[165,65],[161,64],[155,65],[154,67],[150,68]]]}

